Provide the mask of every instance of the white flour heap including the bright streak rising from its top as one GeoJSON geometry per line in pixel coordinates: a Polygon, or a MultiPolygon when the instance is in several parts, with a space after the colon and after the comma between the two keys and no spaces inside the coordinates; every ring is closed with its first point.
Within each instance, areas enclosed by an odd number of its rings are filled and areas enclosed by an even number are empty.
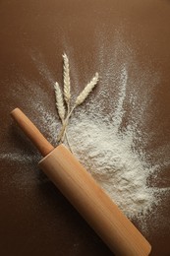
{"type": "Polygon", "coordinates": [[[113,113],[103,117],[101,104],[92,99],[88,104],[90,111],[86,114],[80,110],[72,119],[68,135],[77,158],[122,211],[133,219],[149,213],[159,203],[158,194],[168,189],[148,184],[151,173],[155,173],[158,166],[147,162],[142,149],[136,148],[136,141],[140,141],[140,131],[136,129],[138,120],[136,125],[121,129],[126,112],[127,81],[128,70],[123,65],[113,113]]]}

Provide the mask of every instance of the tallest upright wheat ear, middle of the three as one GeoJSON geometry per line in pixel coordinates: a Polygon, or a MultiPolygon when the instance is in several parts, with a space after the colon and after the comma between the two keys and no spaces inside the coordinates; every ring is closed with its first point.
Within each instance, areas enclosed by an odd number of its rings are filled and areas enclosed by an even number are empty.
{"type": "Polygon", "coordinates": [[[69,59],[68,56],[66,55],[66,53],[63,54],[63,61],[64,61],[64,65],[63,65],[63,77],[64,77],[64,98],[67,102],[67,104],[69,104],[70,102],[70,98],[71,98],[71,93],[70,93],[70,68],[69,68],[69,59]]]}

